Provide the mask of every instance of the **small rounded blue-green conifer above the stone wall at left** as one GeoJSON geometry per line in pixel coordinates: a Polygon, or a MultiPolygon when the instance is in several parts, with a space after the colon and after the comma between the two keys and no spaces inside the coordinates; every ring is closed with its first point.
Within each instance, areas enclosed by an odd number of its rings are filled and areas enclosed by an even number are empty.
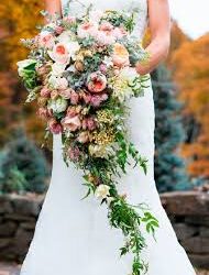
{"type": "Polygon", "coordinates": [[[42,152],[21,131],[10,141],[0,164],[0,191],[42,194],[50,169],[42,152]]]}

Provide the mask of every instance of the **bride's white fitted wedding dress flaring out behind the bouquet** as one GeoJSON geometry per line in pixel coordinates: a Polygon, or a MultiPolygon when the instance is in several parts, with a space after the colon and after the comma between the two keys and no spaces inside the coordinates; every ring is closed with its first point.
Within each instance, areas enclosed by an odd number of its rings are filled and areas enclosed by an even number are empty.
{"type": "MultiPolygon", "coordinates": [[[[82,4],[92,2],[98,9],[140,8],[134,33],[142,37],[147,21],[146,0],[79,0],[70,3],[72,14],[82,4]]],[[[63,4],[65,4],[63,2],[63,4]]],[[[156,14],[157,16],[161,14],[156,14]]],[[[195,271],[178,243],[170,222],[161,205],[155,187],[154,103],[153,91],[132,99],[129,130],[132,142],[148,158],[148,173],[129,168],[119,186],[132,204],[147,202],[160,221],[156,242],[145,232],[147,248],[143,258],[148,262],[147,275],[195,275],[195,271]]],[[[111,229],[107,207],[96,198],[80,198],[86,194],[81,173],[66,167],[62,158],[61,135],[54,136],[52,182],[36,224],[35,234],[22,266],[21,275],[129,275],[132,256],[120,257],[123,244],[120,230],[111,229]]]]}

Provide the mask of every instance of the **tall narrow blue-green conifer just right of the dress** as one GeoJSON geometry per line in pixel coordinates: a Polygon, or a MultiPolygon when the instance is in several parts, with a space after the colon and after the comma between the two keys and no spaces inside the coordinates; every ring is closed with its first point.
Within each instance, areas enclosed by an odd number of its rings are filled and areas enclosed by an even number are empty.
{"type": "Polygon", "coordinates": [[[152,79],[156,116],[156,185],[160,191],[185,190],[190,188],[190,185],[185,172],[185,162],[177,152],[185,139],[179,116],[180,105],[175,98],[175,87],[164,66],[153,73],[152,79]]]}

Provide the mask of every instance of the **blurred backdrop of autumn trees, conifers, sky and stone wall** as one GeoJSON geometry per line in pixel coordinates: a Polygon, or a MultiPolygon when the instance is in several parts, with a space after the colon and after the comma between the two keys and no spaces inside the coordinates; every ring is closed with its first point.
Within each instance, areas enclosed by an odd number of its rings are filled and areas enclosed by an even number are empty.
{"type": "MultiPolygon", "coordinates": [[[[50,184],[52,152],[44,123],[16,62],[21,37],[42,23],[43,1],[0,2],[0,275],[18,274],[50,184]]],[[[209,274],[209,2],[169,0],[169,55],[152,74],[156,129],[155,180],[162,202],[199,274],[209,274]]],[[[147,43],[150,34],[145,35],[147,43]]]]}

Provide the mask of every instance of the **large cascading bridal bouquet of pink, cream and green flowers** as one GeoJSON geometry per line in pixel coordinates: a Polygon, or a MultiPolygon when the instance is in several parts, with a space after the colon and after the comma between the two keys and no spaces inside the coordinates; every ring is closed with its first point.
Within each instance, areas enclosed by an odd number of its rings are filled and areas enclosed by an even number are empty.
{"type": "Polygon", "coordinates": [[[134,12],[100,12],[90,6],[76,18],[67,9],[63,18],[45,13],[48,23],[34,38],[23,40],[31,51],[18,66],[26,102],[37,101],[46,133],[62,134],[66,164],[82,170],[85,197],[94,194],[107,204],[110,226],[124,234],[121,255],[133,253],[132,275],[140,275],[147,271],[142,226],[154,235],[158,221],[117,190],[130,157],[146,173],[146,160],[129,141],[125,125],[128,102],[143,96],[147,81],[134,68],[148,58],[131,35],[134,12]]]}

